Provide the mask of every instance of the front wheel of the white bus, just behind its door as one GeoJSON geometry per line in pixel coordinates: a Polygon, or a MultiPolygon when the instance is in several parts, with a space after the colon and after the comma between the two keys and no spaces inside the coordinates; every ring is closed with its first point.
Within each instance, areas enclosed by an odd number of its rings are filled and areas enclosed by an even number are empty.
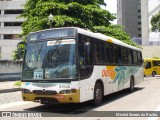
{"type": "Polygon", "coordinates": [[[96,82],[94,87],[94,98],[92,104],[94,106],[99,106],[103,100],[103,87],[100,82],[96,82]]]}

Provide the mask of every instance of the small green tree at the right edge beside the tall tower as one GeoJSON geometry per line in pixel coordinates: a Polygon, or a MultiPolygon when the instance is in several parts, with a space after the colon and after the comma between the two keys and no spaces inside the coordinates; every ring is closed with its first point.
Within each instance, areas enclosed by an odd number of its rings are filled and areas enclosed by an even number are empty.
{"type": "Polygon", "coordinates": [[[151,18],[151,30],[153,32],[160,32],[160,11],[151,18]]]}

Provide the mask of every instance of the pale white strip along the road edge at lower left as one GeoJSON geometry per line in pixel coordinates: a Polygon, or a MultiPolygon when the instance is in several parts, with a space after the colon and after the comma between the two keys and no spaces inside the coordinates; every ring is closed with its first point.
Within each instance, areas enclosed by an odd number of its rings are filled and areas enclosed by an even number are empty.
{"type": "Polygon", "coordinates": [[[18,101],[18,102],[12,102],[12,103],[5,103],[5,104],[0,105],[0,110],[14,107],[14,106],[19,106],[19,105],[25,105],[29,103],[33,103],[33,102],[18,101]]]}

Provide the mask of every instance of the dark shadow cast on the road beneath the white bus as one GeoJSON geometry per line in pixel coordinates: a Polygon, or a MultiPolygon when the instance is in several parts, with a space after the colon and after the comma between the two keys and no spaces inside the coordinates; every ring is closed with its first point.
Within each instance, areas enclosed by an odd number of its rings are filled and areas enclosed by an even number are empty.
{"type": "MultiPolygon", "coordinates": [[[[140,90],[143,90],[143,87],[135,87],[134,92],[130,93],[128,91],[128,89],[116,92],[116,93],[112,93],[110,95],[106,95],[104,97],[103,103],[101,106],[103,105],[107,105],[110,102],[113,102],[115,100],[118,100],[120,98],[126,97],[128,95],[131,95],[135,92],[138,92],[140,90]]],[[[84,102],[84,103],[78,103],[78,104],[45,104],[45,105],[40,105],[40,106],[36,106],[33,108],[28,108],[28,109],[24,109],[24,111],[30,111],[30,112],[42,112],[45,113],[45,115],[49,116],[94,116],[94,109],[96,107],[91,105],[91,102],[84,102]],[[89,112],[92,111],[92,112],[89,112]]]]}

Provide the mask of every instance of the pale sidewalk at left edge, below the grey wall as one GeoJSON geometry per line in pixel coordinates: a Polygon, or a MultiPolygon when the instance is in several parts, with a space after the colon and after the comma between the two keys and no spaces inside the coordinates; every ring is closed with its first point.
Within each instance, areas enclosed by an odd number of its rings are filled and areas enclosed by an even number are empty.
{"type": "Polygon", "coordinates": [[[20,86],[15,86],[16,81],[2,81],[0,82],[0,93],[20,91],[20,86]]]}

